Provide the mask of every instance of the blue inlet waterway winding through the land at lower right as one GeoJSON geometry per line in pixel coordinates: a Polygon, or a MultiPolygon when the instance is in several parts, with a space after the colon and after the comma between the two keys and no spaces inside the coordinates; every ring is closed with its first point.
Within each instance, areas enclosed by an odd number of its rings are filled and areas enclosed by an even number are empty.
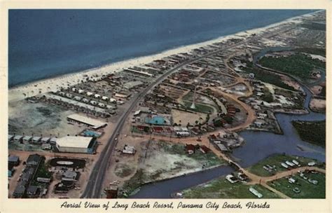
{"type": "MultiPolygon", "coordinates": [[[[284,132],[283,135],[252,130],[240,132],[240,135],[245,140],[245,144],[233,150],[232,156],[239,159],[238,163],[240,163],[242,167],[254,165],[258,163],[258,161],[276,153],[304,156],[325,162],[325,149],[303,142],[291,124],[291,121],[323,121],[326,119],[325,114],[315,113],[310,110],[309,103],[312,94],[305,86],[302,88],[306,94],[304,108],[307,109],[309,113],[302,115],[276,114],[280,128],[282,128],[284,132]]],[[[183,177],[146,184],[141,186],[141,190],[130,198],[170,198],[170,195],[176,191],[205,183],[233,171],[234,169],[229,166],[216,167],[211,170],[188,174],[183,177]]]]}

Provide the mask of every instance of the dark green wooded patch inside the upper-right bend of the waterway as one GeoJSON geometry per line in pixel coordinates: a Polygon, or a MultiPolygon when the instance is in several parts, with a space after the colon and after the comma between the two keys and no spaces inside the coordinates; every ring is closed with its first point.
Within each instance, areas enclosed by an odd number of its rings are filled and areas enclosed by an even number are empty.
{"type": "Polygon", "coordinates": [[[321,62],[318,59],[312,59],[312,57],[296,53],[286,57],[262,57],[259,63],[263,67],[282,71],[293,76],[301,78],[303,81],[308,81],[311,76],[311,72],[316,69],[325,69],[325,62],[321,62]]]}

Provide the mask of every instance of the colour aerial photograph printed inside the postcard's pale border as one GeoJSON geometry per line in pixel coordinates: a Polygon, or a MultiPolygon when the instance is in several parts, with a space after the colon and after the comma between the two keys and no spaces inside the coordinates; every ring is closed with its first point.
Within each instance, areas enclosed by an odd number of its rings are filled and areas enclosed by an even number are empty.
{"type": "Polygon", "coordinates": [[[325,10],[10,9],[8,87],[8,198],[326,198],[325,10]]]}

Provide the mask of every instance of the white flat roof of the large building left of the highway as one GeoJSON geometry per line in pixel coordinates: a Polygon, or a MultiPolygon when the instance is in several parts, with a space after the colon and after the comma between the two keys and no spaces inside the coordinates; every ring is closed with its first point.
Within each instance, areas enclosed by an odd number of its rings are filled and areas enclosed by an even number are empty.
{"type": "Polygon", "coordinates": [[[57,139],[60,147],[88,148],[93,137],[66,136],[57,139]]]}

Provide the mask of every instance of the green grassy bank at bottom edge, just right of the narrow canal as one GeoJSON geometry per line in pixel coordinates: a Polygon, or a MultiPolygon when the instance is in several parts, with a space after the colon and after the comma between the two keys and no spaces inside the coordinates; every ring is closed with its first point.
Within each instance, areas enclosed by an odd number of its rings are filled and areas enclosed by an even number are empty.
{"type": "MultiPolygon", "coordinates": [[[[261,185],[251,186],[263,195],[263,198],[279,198],[279,195],[261,185]]],[[[183,191],[184,198],[257,198],[249,191],[250,186],[237,182],[231,184],[225,177],[214,179],[183,191]]]]}

